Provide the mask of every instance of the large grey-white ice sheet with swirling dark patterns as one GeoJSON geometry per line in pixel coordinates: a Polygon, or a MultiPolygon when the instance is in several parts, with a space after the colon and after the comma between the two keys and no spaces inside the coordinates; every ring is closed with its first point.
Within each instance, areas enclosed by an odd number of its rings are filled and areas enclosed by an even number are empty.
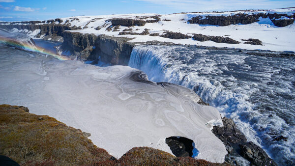
{"type": "Polygon", "coordinates": [[[128,66],[101,68],[0,46],[0,103],[28,107],[91,133],[119,158],[136,146],[172,153],[165,138],[194,140],[197,158],[223,162],[226,149],[210,131],[219,112],[192,90],[149,82],[128,66]]]}

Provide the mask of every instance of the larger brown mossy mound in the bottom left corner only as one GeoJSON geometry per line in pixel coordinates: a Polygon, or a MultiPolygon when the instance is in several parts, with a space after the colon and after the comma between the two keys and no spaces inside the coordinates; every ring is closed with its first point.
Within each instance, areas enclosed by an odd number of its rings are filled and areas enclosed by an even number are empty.
{"type": "Polygon", "coordinates": [[[73,166],[112,157],[93,145],[81,130],[49,116],[29,113],[25,107],[9,105],[0,105],[0,155],[20,165],[73,166]]]}

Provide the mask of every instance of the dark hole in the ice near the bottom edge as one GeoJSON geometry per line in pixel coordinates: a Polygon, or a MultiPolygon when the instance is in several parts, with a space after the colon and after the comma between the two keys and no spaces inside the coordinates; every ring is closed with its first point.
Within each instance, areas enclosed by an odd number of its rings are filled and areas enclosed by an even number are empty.
{"type": "Polygon", "coordinates": [[[188,138],[169,137],[166,138],[166,144],[176,157],[196,157],[199,154],[198,149],[195,148],[195,142],[188,138]]]}

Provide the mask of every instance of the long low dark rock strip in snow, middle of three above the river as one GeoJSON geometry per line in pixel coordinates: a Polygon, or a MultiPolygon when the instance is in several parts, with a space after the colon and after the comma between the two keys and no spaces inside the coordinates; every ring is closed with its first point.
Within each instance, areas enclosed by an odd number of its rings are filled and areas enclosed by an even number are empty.
{"type": "Polygon", "coordinates": [[[207,36],[207,35],[204,35],[204,34],[195,34],[193,36],[193,39],[194,40],[197,40],[197,41],[208,41],[208,40],[211,40],[213,42],[216,42],[216,43],[229,43],[229,44],[239,44],[240,42],[234,40],[234,39],[231,39],[229,37],[222,37],[222,36],[207,36]]]}

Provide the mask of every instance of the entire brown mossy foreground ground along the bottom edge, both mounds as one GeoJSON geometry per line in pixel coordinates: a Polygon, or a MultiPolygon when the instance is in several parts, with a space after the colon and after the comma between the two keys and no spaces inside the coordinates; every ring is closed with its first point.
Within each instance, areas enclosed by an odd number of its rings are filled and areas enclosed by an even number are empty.
{"type": "MultiPolygon", "coordinates": [[[[27,166],[224,166],[135,147],[119,160],[93,145],[81,130],[28,108],[0,105],[0,155],[27,166]]],[[[0,163],[1,165],[1,163],[0,163]]]]}

